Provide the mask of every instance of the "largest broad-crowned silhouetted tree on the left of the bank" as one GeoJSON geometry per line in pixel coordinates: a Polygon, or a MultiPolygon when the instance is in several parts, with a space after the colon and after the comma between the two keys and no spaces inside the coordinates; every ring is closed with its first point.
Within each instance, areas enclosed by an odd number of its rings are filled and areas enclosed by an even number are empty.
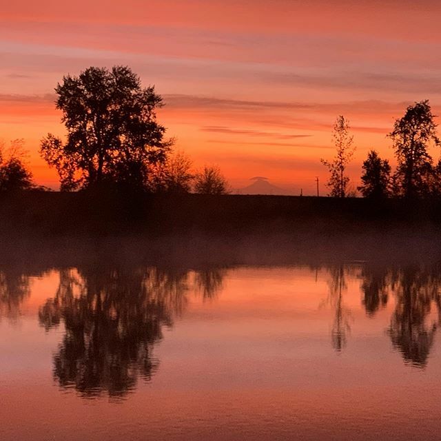
{"type": "Polygon", "coordinates": [[[148,165],[165,161],[172,141],[156,121],[163,105],[154,87],[124,66],[91,67],[55,88],[67,141],[48,134],[41,156],[57,169],[62,190],[116,183],[144,188],[148,165]]]}

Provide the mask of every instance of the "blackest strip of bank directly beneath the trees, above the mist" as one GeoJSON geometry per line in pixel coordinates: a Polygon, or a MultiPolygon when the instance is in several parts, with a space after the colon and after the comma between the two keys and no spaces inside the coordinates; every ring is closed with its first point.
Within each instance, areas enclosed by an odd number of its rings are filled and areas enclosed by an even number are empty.
{"type": "Polygon", "coordinates": [[[3,234],[43,236],[418,231],[441,225],[441,201],[19,192],[0,195],[0,223],[3,234]]]}

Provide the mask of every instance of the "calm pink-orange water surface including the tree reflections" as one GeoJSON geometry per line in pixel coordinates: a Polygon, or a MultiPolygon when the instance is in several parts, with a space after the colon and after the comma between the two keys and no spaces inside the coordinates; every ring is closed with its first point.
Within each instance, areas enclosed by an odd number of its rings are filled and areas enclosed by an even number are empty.
{"type": "Polygon", "coordinates": [[[0,267],[0,439],[425,440],[441,268],[0,267]]]}

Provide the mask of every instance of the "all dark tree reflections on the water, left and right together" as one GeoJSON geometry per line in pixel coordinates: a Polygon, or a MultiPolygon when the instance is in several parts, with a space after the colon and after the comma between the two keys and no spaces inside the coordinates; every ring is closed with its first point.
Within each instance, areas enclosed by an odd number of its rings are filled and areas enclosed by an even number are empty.
{"type": "MultiPolygon", "coordinates": [[[[376,318],[389,307],[385,335],[404,362],[424,368],[441,322],[441,267],[409,265],[329,265],[322,268],[331,308],[331,345],[348,344],[353,315],[347,296],[358,289],[366,315],[376,318]],[[358,283],[358,285],[354,285],[358,283]]],[[[154,347],[164,329],[185,313],[189,294],[216,299],[225,267],[188,269],[133,265],[83,265],[58,271],[59,281],[39,307],[45,331],[58,327],[63,337],[53,355],[53,376],[63,389],[84,398],[120,399],[158,369],[154,347]]],[[[0,316],[17,319],[30,294],[30,278],[18,267],[0,269],[0,316]]],[[[318,268],[311,271],[317,278],[318,268]]]]}

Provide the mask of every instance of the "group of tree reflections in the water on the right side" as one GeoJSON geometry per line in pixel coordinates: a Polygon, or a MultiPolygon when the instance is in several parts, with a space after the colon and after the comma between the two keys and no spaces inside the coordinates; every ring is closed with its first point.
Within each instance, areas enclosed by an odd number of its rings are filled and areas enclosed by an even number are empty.
{"type": "MultiPolygon", "coordinates": [[[[338,352],[345,348],[351,329],[350,311],[344,305],[343,295],[347,291],[345,276],[352,269],[344,265],[329,268],[329,299],[334,309],[331,340],[338,352]]],[[[398,268],[366,265],[360,271],[362,305],[367,316],[374,317],[393,296],[395,309],[387,329],[393,347],[400,351],[404,362],[426,366],[441,323],[441,268],[437,265],[398,268]]]]}

